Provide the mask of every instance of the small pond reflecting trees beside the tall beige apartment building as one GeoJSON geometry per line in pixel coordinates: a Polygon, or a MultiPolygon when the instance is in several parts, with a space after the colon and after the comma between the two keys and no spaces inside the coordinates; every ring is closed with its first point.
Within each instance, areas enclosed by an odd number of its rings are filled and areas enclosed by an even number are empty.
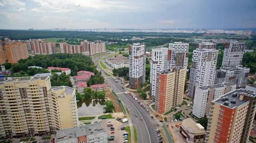
{"type": "Polygon", "coordinates": [[[93,115],[93,114],[101,114],[104,113],[105,100],[104,99],[82,99],[78,102],[77,109],[78,115],[93,115]]]}

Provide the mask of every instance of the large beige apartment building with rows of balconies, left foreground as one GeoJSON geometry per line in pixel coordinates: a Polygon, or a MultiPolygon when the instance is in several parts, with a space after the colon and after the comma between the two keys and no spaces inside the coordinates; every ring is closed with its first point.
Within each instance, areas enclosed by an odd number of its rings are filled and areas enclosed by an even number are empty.
{"type": "Polygon", "coordinates": [[[45,135],[76,127],[75,89],[51,87],[49,76],[0,81],[0,136],[45,135]]]}

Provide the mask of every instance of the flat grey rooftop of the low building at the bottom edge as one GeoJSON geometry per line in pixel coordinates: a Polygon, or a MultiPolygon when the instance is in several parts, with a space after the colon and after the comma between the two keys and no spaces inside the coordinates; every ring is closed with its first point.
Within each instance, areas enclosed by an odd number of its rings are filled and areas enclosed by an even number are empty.
{"type": "Polygon", "coordinates": [[[95,135],[105,132],[101,123],[93,123],[85,126],[78,126],[69,129],[62,129],[57,131],[57,141],[76,139],[81,136],[95,135]]]}

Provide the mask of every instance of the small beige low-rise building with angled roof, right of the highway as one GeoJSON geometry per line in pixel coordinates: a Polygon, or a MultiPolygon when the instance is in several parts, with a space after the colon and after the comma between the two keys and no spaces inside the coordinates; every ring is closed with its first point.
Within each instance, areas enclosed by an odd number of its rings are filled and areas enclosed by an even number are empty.
{"type": "Polygon", "coordinates": [[[186,118],[180,125],[180,134],[186,143],[204,143],[206,131],[200,123],[192,118],[186,118]]]}

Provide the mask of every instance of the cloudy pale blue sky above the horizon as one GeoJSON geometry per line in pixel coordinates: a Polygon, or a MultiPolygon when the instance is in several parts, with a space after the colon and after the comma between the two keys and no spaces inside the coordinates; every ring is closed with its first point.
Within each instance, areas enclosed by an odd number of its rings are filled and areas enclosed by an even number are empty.
{"type": "Polygon", "coordinates": [[[0,0],[0,29],[255,28],[256,0],[0,0]]]}

